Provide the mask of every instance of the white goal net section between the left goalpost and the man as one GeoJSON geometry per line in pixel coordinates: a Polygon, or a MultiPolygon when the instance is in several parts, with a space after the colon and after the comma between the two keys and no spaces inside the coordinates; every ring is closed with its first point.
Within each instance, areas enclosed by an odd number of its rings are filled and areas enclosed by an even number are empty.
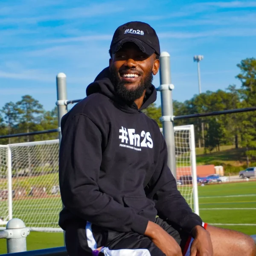
{"type": "MultiPolygon", "coordinates": [[[[8,147],[12,156],[12,205],[9,202],[12,218],[22,219],[31,230],[60,231],[59,140],[9,144],[8,147]]],[[[3,203],[6,201],[7,198],[3,203]]]]}

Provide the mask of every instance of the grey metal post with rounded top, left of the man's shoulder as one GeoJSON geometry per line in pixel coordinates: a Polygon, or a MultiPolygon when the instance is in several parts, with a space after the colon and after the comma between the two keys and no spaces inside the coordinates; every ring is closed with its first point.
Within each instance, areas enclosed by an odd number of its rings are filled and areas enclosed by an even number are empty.
{"type": "MultiPolygon", "coordinates": [[[[58,127],[61,127],[61,118],[67,113],[67,76],[64,73],[58,73],[57,81],[57,102],[58,106],[58,127]]],[[[61,142],[61,130],[59,130],[59,139],[61,142]]]]}

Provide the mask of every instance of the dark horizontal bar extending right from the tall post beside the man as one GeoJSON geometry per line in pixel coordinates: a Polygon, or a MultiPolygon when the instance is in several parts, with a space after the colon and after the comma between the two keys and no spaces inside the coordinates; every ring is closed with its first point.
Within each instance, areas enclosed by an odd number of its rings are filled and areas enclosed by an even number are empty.
{"type": "Polygon", "coordinates": [[[218,116],[218,115],[224,115],[224,114],[241,113],[241,112],[249,112],[249,111],[256,111],[256,107],[229,109],[229,110],[223,110],[223,111],[197,113],[197,114],[184,115],[184,116],[174,116],[173,119],[178,120],[178,119],[189,119],[189,118],[197,118],[197,117],[204,117],[204,116],[218,116]]]}

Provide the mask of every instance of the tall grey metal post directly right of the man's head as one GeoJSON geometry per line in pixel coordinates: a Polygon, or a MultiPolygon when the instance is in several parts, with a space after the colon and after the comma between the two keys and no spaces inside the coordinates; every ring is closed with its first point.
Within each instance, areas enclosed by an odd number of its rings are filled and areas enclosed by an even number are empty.
{"type": "Polygon", "coordinates": [[[161,121],[163,123],[163,136],[168,148],[168,166],[176,179],[172,89],[174,86],[171,84],[170,55],[168,52],[162,52],[160,55],[160,87],[157,90],[161,92],[161,121]]]}

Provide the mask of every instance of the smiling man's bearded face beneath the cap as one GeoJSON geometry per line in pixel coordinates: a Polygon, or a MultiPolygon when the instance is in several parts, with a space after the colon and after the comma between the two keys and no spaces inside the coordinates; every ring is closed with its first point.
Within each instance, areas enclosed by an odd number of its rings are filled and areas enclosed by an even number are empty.
{"type": "Polygon", "coordinates": [[[125,101],[139,99],[151,86],[159,69],[156,55],[146,55],[134,43],[125,43],[109,62],[111,80],[116,93],[125,101]]]}

